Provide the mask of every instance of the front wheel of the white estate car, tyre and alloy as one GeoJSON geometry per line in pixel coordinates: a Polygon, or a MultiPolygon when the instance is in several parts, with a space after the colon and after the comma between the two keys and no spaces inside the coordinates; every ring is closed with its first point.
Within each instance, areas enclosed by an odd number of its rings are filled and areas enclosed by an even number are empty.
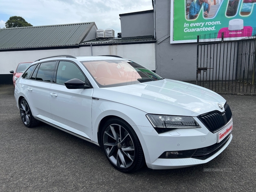
{"type": "Polygon", "coordinates": [[[109,119],[102,130],[101,146],[109,162],[121,172],[134,172],[145,163],[135,131],[123,119],[109,119]]]}

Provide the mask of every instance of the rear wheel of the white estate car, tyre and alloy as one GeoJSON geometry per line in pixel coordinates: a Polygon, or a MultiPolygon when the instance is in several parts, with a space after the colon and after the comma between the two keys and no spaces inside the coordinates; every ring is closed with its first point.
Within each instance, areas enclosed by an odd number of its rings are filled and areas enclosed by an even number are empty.
{"type": "Polygon", "coordinates": [[[33,117],[32,112],[29,108],[29,104],[26,101],[26,99],[24,98],[21,99],[19,106],[20,106],[20,117],[23,124],[29,128],[32,128],[38,125],[38,120],[33,117]]]}

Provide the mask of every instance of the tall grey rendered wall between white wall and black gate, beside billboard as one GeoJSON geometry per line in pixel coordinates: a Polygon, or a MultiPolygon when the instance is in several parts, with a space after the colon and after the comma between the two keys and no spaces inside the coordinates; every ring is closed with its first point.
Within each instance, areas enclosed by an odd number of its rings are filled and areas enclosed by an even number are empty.
{"type": "Polygon", "coordinates": [[[170,44],[171,0],[156,0],[156,73],[180,81],[196,80],[197,44],[170,44]]]}

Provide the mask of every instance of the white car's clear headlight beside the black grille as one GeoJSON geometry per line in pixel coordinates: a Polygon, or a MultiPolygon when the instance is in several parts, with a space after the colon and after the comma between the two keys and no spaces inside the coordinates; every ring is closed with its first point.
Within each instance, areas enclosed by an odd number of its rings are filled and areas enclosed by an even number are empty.
{"type": "Polygon", "coordinates": [[[191,116],[172,116],[146,114],[157,133],[172,131],[177,128],[201,128],[191,116]]]}

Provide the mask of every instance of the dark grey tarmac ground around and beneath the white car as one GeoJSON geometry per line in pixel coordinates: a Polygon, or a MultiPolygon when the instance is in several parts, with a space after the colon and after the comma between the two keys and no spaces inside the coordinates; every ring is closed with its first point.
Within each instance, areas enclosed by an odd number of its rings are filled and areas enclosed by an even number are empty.
{"type": "Polygon", "coordinates": [[[233,112],[233,140],[218,157],[183,169],[124,174],[92,143],[44,123],[26,128],[13,86],[0,85],[0,191],[253,192],[256,96],[222,96],[233,112]]]}

